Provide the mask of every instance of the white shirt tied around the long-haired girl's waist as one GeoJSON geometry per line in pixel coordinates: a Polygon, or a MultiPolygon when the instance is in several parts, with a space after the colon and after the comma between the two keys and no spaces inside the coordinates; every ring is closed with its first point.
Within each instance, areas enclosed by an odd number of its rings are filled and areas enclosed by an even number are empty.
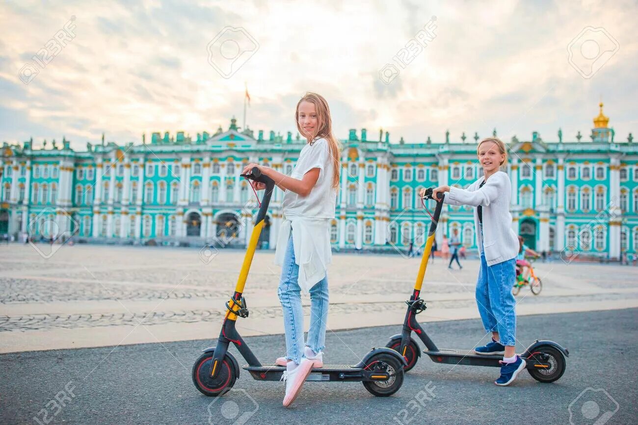
{"type": "Polygon", "coordinates": [[[292,232],[295,264],[299,265],[299,287],[305,292],[326,276],[332,257],[329,219],[286,216],[279,228],[275,264],[283,265],[292,232]]]}

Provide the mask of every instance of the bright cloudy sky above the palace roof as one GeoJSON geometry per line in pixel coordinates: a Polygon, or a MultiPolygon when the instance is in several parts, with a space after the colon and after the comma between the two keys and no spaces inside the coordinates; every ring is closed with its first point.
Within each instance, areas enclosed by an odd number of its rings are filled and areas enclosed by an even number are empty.
{"type": "Polygon", "coordinates": [[[103,131],[122,144],[212,132],[231,116],[241,124],[244,84],[248,126],[266,134],[296,133],[296,102],[316,91],[339,138],[383,128],[393,142],[441,141],[446,130],[459,140],[496,128],[556,140],[562,128],[574,140],[590,133],[601,98],[617,139],[638,137],[635,2],[479,3],[5,1],[0,141],[66,135],[83,148],[103,131]]]}

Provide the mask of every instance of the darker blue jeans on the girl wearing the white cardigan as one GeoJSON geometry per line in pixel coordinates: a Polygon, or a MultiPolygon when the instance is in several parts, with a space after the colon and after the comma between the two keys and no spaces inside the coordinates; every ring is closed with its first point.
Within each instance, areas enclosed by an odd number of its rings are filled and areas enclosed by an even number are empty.
{"type": "Polygon", "coordinates": [[[479,314],[486,332],[498,332],[502,345],[516,345],[516,299],[512,295],[515,280],[516,258],[488,266],[485,252],[481,251],[476,290],[479,314]]]}

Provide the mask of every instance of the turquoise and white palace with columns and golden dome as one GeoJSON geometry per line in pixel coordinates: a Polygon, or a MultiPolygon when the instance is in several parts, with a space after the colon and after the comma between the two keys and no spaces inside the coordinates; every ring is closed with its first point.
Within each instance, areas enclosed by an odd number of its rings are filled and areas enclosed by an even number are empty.
{"type": "MultiPolygon", "coordinates": [[[[616,140],[609,118],[593,119],[590,135],[553,141],[533,132],[508,141],[514,230],[537,251],[578,251],[618,258],[638,251],[638,149],[631,133],[616,140]]],[[[290,174],[305,140],[271,131],[264,138],[228,130],[152,133],[142,143],[88,143],[84,151],[63,138],[3,146],[0,234],[79,241],[243,245],[252,230],[255,197],[239,176],[258,162],[290,174]]],[[[496,130],[494,130],[496,135],[496,130]]],[[[343,144],[341,189],[330,227],[335,248],[406,250],[424,243],[429,215],[420,188],[465,188],[479,178],[479,135],[438,142],[368,135],[350,130],[343,144]]],[[[274,248],[283,192],[276,188],[262,242],[274,248]]],[[[468,250],[476,237],[470,207],[446,205],[437,239],[457,228],[468,250]]]]}

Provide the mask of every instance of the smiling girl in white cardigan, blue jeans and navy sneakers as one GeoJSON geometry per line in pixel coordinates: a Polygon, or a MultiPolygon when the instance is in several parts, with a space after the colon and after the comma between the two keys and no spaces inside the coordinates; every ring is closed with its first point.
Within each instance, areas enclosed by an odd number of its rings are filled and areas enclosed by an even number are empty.
{"type": "MultiPolygon", "coordinates": [[[[519,242],[512,230],[509,211],[510,179],[500,167],[507,160],[505,144],[496,137],[481,140],[477,148],[483,177],[467,189],[439,186],[433,198],[444,193],[443,202],[471,205],[480,249],[480,271],[476,300],[486,332],[492,341],[474,351],[483,355],[503,355],[501,376],[496,385],[509,385],[525,369],[525,361],[516,355],[516,301],[512,285],[516,279],[516,256],[519,242]]],[[[424,196],[422,190],[421,197],[424,196]]]]}

